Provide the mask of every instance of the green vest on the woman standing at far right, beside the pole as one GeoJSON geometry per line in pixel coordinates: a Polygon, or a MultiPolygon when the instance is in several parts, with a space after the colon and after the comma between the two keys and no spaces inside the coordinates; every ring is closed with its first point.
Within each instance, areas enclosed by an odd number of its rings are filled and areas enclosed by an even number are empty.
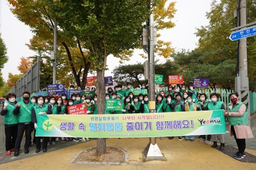
{"type": "MultiPolygon", "coordinates": [[[[228,107],[228,112],[238,112],[238,110],[242,104],[243,103],[241,101],[239,101],[239,103],[234,105],[234,107],[231,110],[228,107]]],[[[230,106],[230,104],[228,106],[230,106]]],[[[245,105],[245,106],[246,106],[246,110],[245,110],[245,113],[243,114],[243,116],[240,116],[240,117],[229,116],[229,125],[248,125],[247,105],[245,105]]]]}

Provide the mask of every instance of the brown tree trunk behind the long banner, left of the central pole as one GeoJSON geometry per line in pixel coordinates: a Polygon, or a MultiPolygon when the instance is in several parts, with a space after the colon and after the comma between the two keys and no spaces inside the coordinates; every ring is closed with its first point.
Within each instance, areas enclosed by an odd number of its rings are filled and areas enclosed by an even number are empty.
{"type": "MultiPolygon", "coordinates": [[[[98,62],[105,62],[104,57],[99,56],[98,62]]],[[[96,69],[97,71],[97,95],[98,95],[98,107],[97,114],[105,114],[105,83],[104,83],[104,71],[105,69],[96,69]]],[[[100,156],[102,154],[106,154],[106,139],[98,138],[97,139],[97,155],[100,156]]]]}

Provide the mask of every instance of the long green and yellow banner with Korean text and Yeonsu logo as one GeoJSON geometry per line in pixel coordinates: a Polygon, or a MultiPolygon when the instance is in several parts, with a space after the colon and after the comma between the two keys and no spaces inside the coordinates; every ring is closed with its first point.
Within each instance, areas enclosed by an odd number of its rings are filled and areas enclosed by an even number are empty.
{"type": "Polygon", "coordinates": [[[224,110],[37,117],[38,137],[137,138],[225,134],[224,110]]]}

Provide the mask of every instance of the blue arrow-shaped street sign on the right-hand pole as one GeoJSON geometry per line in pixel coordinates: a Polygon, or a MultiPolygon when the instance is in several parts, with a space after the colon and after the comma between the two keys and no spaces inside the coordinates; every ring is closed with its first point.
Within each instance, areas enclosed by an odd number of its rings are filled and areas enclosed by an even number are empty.
{"type": "Polygon", "coordinates": [[[229,39],[234,41],[234,40],[239,40],[239,39],[243,39],[243,38],[251,37],[251,36],[255,36],[255,35],[256,35],[256,26],[251,27],[251,28],[242,29],[237,32],[233,32],[229,36],[229,39]]]}

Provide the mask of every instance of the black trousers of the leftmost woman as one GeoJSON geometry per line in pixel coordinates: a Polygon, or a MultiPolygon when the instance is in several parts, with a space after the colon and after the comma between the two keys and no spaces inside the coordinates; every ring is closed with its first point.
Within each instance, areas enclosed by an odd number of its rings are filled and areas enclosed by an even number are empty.
{"type": "Polygon", "coordinates": [[[18,125],[5,127],[5,150],[10,151],[11,148],[14,148],[15,141],[18,133],[18,125]]]}

